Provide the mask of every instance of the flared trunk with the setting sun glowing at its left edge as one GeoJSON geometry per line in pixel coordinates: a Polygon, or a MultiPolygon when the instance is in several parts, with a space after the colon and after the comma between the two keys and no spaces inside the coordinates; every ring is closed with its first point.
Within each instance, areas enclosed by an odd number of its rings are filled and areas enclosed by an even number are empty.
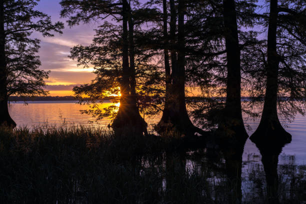
{"type": "Polygon", "coordinates": [[[120,82],[120,106],[116,117],[112,122],[112,128],[132,129],[136,132],[147,134],[147,124],[140,116],[137,106],[134,43],[133,43],[133,19],[130,7],[126,0],[122,0],[122,79],[120,82]],[[128,22],[128,30],[127,30],[128,22]],[[128,60],[129,57],[129,60],[128,60]]]}

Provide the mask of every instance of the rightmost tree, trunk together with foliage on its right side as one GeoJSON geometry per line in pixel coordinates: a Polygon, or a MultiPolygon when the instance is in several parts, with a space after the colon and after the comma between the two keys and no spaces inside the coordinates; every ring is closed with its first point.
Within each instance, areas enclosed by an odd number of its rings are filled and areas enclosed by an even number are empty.
{"type": "Polygon", "coordinates": [[[282,103],[289,104],[289,111],[297,109],[302,113],[298,106],[303,103],[306,87],[306,4],[299,0],[270,0],[269,7],[266,62],[263,63],[266,67],[264,105],[259,126],[251,138],[280,135],[282,138],[277,139],[286,141],[291,140],[291,135],[279,122],[277,101],[282,100],[278,103],[280,108],[282,103]],[[300,103],[296,104],[296,100],[300,103]]]}

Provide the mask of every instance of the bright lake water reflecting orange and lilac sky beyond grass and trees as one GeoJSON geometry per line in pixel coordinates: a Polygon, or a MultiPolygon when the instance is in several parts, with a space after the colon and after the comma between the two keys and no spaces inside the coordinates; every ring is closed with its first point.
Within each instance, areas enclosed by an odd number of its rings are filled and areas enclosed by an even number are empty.
{"type": "MultiPolygon", "coordinates": [[[[105,102],[102,106],[106,107],[110,104],[112,103],[105,102]]],[[[89,120],[94,119],[87,114],[81,114],[80,109],[86,109],[86,105],[77,104],[76,101],[28,101],[27,105],[24,105],[22,101],[17,101],[9,104],[10,115],[20,126],[62,125],[65,122],[68,125],[93,125],[106,128],[111,123],[110,118],[89,123],[89,120]]],[[[149,128],[159,119],[160,115],[145,118],[150,124],[149,128]]],[[[251,127],[248,129],[249,135],[256,129],[258,122],[259,119],[247,120],[251,127]]],[[[284,158],[287,156],[294,158],[295,164],[306,164],[306,116],[297,114],[291,123],[285,122],[285,129],[292,135],[292,141],[283,147],[279,155],[279,162],[286,162],[284,158]]],[[[259,150],[249,139],[246,140],[242,157],[244,161],[260,162],[259,150]]]]}

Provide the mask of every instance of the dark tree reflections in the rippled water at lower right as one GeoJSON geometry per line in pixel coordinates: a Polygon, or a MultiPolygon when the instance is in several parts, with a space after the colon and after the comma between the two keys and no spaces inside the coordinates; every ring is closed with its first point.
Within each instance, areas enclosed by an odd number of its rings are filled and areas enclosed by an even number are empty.
{"type": "Polygon", "coordinates": [[[281,153],[285,142],[256,142],[259,152],[243,160],[245,143],[246,139],[231,140],[219,149],[165,152],[160,191],[168,200],[179,192],[204,203],[306,201],[306,166],[296,165],[294,155],[281,153]]]}

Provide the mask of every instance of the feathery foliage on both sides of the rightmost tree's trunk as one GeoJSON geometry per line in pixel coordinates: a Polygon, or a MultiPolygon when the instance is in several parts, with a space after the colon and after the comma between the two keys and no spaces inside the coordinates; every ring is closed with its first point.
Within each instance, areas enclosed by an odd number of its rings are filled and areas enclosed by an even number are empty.
{"type": "MultiPolygon", "coordinates": [[[[269,6],[267,1],[266,6],[269,6]]],[[[262,7],[264,7],[262,5],[262,7]]],[[[277,3],[276,55],[278,63],[277,97],[279,113],[290,120],[303,114],[306,95],[306,3],[302,0],[279,0],[277,3]],[[299,102],[296,102],[299,101],[299,102]]],[[[257,25],[268,29],[269,12],[259,13],[257,25]]],[[[261,34],[262,36],[263,34],[261,34]]],[[[263,38],[243,52],[245,90],[251,103],[263,102],[267,75],[267,39],[263,38]]]]}

